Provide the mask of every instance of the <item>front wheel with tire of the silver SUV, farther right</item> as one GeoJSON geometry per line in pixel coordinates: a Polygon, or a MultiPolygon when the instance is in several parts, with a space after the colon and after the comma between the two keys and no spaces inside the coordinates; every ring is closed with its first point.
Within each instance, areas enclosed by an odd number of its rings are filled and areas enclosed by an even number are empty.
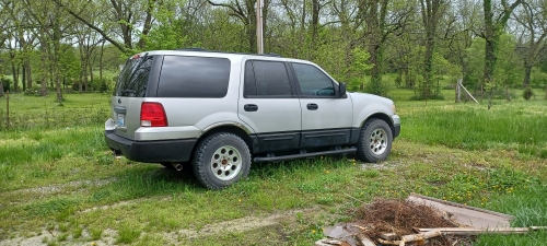
{"type": "Polygon", "coordinates": [[[369,119],[361,128],[357,143],[357,156],[363,162],[380,162],[392,151],[392,129],[382,119],[369,119]]]}

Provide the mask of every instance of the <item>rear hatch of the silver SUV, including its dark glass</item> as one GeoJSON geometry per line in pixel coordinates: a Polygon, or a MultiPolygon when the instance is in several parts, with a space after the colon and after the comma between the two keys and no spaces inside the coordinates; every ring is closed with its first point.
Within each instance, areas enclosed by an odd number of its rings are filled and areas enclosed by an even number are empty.
{"type": "Polygon", "coordinates": [[[154,60],[154,56],[136,55],[126,61],[119,73],[110,105],[116,125],[114,131],[120,137],[135,140],[135,131],[140,128],[141,104],[153,87],[154,60]]]}

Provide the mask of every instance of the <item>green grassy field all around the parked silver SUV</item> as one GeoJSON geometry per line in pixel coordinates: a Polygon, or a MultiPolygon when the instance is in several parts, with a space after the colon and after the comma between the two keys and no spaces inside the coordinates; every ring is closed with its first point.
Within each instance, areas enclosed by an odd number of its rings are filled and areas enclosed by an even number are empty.
{"type": "MultiPolygon", "coordinates": [[[[312,245],[351,208],[410,192],[513,214],[514,226],[547,225],[547,101],[496,101],[488,109],[392,93],[403,131],[387,161],[253,164],[246,180],[221,191],[199,186],[187,167],[114,159],[98,120],[108,95],[68,94],[62,107],[21,96],[10,104],[27,120],[44,117],[43,108],[97,119],[0,129],[0,245],[312,245]]],[[[547,233],[476,244],[540,242],[547,233]]]]}

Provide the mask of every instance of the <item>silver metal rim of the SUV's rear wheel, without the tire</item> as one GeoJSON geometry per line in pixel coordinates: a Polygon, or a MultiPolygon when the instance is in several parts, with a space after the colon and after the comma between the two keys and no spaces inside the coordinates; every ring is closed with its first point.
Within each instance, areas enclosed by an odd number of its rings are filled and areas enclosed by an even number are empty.
{"type": "Polygon", "coordinates": [[[218,179],[230,180],[237,176],[242,167],[240,151],[230,145],[224,145],[212,154],[211,172],[218,179]]]}

